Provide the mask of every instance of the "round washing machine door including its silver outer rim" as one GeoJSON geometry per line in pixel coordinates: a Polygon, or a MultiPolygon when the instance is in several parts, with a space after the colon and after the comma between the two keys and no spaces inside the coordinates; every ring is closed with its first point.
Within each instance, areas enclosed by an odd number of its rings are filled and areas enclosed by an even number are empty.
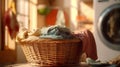
{"type": "Polygon", "coordinates": [[[110,48],[120,50],[120,4],[102,12],[98,20],[98,34],[110,48]]]}

